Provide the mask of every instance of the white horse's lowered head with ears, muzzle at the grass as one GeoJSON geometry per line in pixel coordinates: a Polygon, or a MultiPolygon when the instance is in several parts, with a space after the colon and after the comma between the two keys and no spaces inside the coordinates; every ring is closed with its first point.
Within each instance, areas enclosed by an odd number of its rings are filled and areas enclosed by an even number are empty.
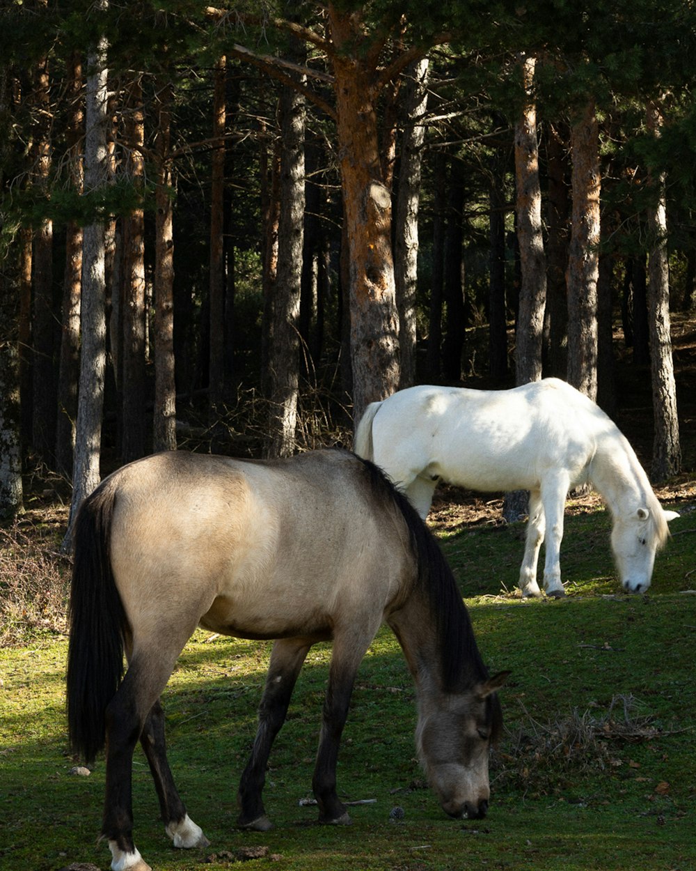
{"type": "Polygon", "coordinates": [[[624,590],[644,593],[650,586],[655,553],[666,543],[667,523],[675,517],[679,517],[676,511],[658,505],[653,509],[641,507],[615,519],[612,550],[624,590]]]}

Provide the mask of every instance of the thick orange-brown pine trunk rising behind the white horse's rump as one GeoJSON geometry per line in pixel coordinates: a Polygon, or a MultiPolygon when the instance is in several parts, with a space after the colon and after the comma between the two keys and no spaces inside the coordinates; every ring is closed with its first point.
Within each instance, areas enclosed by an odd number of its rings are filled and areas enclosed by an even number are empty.
{"type": "Polygon", "coordinates": [[[391,195],[378,143],[377,57],[356,51],[359,17],[328,5],[340,166],[349,246],[353,421],[398,388],[398,311],[391,195]]]}

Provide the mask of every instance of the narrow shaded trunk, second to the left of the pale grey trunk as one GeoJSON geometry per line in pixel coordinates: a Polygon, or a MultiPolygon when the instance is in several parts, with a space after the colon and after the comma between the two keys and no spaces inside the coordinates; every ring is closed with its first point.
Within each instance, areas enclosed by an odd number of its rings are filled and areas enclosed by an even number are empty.
{"type": "MultiPolygon", "coordinates": [[[[45,0],[42,0],[45,6],[45,0]]],[[[51,162],[48,57],[40,60],[36,81],[37,113],[40,118],[33,149],[35,184],[48,199],[51,162]]],[[[33,420],[31,441],[48,463],[56,450],[57,379],[54,357],[55,313],[53,310],[53,221],[43,218],[34,233],[33,420]]]]}

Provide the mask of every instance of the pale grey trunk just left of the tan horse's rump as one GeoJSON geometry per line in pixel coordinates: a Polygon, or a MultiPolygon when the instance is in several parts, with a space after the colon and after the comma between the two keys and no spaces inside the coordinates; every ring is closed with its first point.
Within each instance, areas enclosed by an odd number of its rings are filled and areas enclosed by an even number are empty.
{"type": "MultiPolygon", "coordinates": [[[[108,0],[96,0],[94,9],[104,15],[108,0]]],[[[84,192],[98,192],[108,179],[106,128],[109,121],[106,37],[100,37],[87,60],[85,102],[84,192]]],[[[104,300],[104,222],[93,220],[84,227],[82,277],[82,350],[77,403],[77,438],[72,474],[72,501],[64,549],[72,546],[72,529],[77,508],[99,483],[104,368],[106,361],[106,319],[104,300]]]]}

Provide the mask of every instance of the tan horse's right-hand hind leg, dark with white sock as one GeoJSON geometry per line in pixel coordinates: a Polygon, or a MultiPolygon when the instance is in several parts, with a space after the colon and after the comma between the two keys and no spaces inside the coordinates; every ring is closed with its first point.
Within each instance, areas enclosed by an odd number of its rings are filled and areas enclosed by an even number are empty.
{"type": "Polygon", "coordinates": [[[140,736],[159,798],[162,820],[175,847],[208,847],[210,841],[186,813],[167,760],[164,712],[159,701],[151,708],[140,736]]]}

